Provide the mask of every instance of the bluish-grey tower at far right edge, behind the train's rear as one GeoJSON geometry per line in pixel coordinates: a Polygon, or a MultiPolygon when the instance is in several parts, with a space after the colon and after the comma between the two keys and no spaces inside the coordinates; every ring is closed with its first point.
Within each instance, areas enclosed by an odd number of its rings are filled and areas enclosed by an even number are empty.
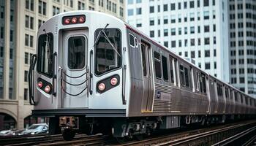
{"type": "Polygon", "coordinates": [[[256,0],[229,0],[230,83],[256,98],[256,0]]]}

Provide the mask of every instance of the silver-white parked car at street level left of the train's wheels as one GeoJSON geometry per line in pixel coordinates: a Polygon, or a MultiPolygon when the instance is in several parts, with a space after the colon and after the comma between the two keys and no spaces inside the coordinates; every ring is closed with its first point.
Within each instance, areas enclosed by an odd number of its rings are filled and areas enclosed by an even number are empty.
{"type": "Polygon", "coordinates": [[[22,131],[20,135],[27,134],[48,134],[48,124],[46,123],[37,123],[29,126],[25,131],[22,131]]]}

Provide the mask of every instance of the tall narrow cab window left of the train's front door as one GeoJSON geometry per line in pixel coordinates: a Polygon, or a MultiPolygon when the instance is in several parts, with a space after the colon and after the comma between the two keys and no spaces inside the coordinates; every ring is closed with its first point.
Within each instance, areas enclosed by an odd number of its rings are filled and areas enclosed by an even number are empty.
{"type": "Polygon", "coordinates": [[[37,71],[51,77],[53,74],[53,34],[39,36],[37,57],[37,71]]]}

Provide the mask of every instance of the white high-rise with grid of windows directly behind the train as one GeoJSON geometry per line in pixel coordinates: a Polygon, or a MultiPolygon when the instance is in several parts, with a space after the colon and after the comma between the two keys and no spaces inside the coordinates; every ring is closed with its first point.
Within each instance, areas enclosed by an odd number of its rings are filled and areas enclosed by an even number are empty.
{"type": "Polygon", "coordinates": [[[127,0],[127,22],[229,82],[226,0],[127,0]]]}

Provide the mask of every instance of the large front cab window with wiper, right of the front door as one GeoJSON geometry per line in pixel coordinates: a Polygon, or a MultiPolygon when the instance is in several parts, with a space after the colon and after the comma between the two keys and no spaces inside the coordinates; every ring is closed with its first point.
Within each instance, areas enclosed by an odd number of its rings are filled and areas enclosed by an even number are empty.
{"type": "Polygon", "coordinates": [[[95,74],[100,75],[121,66],[121,31],[106,28],[95,31],[95,74]],[[97,37],[99,38],[97,39],[97,37]]]}

